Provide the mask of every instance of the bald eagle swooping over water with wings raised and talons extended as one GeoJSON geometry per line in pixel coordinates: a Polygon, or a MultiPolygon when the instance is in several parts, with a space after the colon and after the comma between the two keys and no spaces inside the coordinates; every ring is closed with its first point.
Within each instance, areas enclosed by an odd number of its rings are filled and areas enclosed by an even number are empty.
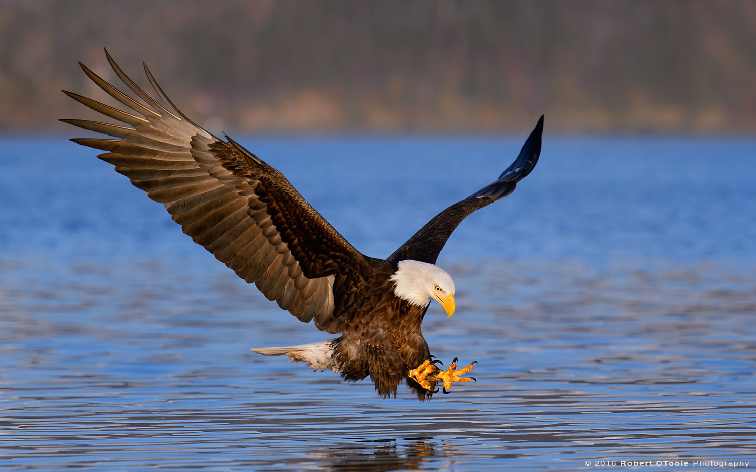
{"type": "Polygon", "coordinates": [[[313,369],[340,373],[347,381],[372,378],[380,396],[396,396],[406,381],[420,400],[446,393],[472,362],[457,369],[437,366],[420,332],[432,301],[454,313],[454,281],[435,266],[454,228],[472,211],[508,196],[533,170],[541,153],[544,117],[517,159],[492,184],[437,214],[386,259],[363,255],[302,198],[275,168],[225,135],[194,124],[144,72],[159,103],[113,61],[116,75],[133,92],[125,94],[82,63],[86,75],[131,111],[64,91],[111,119],[112,125],[64,119],[117,139],[74,138],[107,153],[98,158],[116,166],[150,199],[163,203],[173,221],[234,270],[254,282],[268,300],[302,322],[314,320],[326,341],[286,347],[256,347],[267,355],[287,355],[313,369]],[[141,99],[141,101],[139,100],[141,99]]]}

